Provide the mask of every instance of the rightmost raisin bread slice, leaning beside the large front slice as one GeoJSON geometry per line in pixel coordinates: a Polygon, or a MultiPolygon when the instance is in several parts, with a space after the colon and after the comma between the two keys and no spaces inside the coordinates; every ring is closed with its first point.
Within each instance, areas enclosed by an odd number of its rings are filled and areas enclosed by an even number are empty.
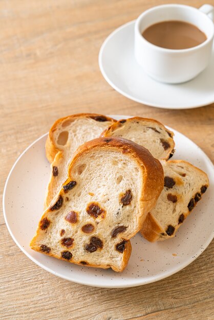
{"type": "Polygon", "coordinates": [[[151,242],[174,237],[209,186],[206,173],[186,161],[161,161],[161,164],[164,189],[141,230],[151,242]]]}

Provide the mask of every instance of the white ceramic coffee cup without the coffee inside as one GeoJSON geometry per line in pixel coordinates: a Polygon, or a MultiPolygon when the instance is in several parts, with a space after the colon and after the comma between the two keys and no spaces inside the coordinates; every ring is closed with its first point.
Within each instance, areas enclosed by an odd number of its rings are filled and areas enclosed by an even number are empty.
{"type": "Polygon", "coordinates": [[[144,71],[160,82],[181,83],[195,78],[208,65],[214,36],[213,21],[207,15],[213,7],[196,9],[184,5],[162,5],[143,12],[135,22],[135,58],[144,71]],[[142,32],[161,21],[179,20],[195,25],[207,39],[196,47],[165,49],[148,42],[142,32]]]}

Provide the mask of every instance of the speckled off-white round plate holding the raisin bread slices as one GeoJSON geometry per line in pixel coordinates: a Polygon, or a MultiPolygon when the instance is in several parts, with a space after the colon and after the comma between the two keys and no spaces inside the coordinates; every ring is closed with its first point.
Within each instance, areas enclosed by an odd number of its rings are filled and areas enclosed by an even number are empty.
{"type": "MultiPolygon", "coordinates": [[[[124,119],[127,116],[112,116],[124,119]]],[[[19,156],[7,178],[3,209],[8,230],[19,248],[37,265],[73,282],[97,287],[132,287],[166,278],[194,261],[213,238],[214,168],[205,153],[183,134],[175,132],[174,158],[204,170],[210,187],[179,228],[176,237],[150,243],[137,234],[131,239],[132,255],[122,273],[81,267],[33,251],[29,247],[42,215],[50,164],[45,155],[47,134],[19,156]],[[175,256],[176,255],[176,256],[175,256]]]]}

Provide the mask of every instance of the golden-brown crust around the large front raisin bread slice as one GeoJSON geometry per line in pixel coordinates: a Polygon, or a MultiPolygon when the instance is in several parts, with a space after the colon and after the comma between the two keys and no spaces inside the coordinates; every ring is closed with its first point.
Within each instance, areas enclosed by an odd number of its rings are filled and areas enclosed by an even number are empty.
{"type": "MultiPolygon", "coordinates": [[[[123,251],[123,257],[122,257],[122,263],[120,265],[120,268],[117,268],[115,265],[93,265],[93,264],[87,264],[87,266],[92,266],[92,267],[100,267],[100,268],[109,268],[111,267],[113,270],[120,272],[122,270],[124,270],[124,268],[127,265],[127,262],[129,261],[130,255],[131,255],[131,251],[132,251],[132,246],[130,243],[130,238],[132,238],[142,227],[143,221],[146,217],[146,214],[149,210],[151,210],[162,189],[163,189],[163,168],[160,164],[160,162],[155,159],[151,153],[149,153],[149,151],[147,149],[145,149],[144,147],[141,147],[139,145],[137,145],[136,143],[129,141],[129,140],[125,140],[125,139],[119,139],[119,138],[110,138],[110,139],[106,139],[106,138],[97,138],[95,140],[89,141],[87,143],[85,143],[84,145],[80,146],[72,161],[71,164],[69,166],[69,170],[68,170],[68,180],[65,181],[66,185],[70,180],[72,180],[72,175],[71,175],[71,171],[73,166],[75,165],[75,162],[78,160],[79,157],[81,157],[82,154],[85,154],[87,152],[89,152],[91,149],[93,148],[111,148],[111,149],[116,149],[117,151],[120,151],[121,153],[125,153],[127,155],[129,155],[130,157],[133,157],[135,159],[135,161],[138,163],[138,165],[142,168],[143,170],[143,178],[144,178],[144,184],[143,184],[143,188],[141,190],[141,195],[140,195],[140,213],[139,213],[139,219],[138,219],[138,224],[137,224],[137,228],[136,230],[133,231],[133,233],[130,233],[128,237],[121,238],[122,240],[127,241],[125,243],[125,250],[123,251]]],[[[54,197],[54,199],[52,200],[52,202],[50,203],[48,209],[44,212],[44,214],[42,215],[41,219],[44,219],[47,216],[47,213],[49,211],[51,211],[51,207],[52,205],[56,202],[57,198],[59,197],[59,195],[61,196],[65,196],[65,194],[63,193],[63,188],[61,188],[60,192],[54,197]]],[[[30,246],[32,249],[34,249],[37,252],[41,252],[40,247],[38,244],[36,244],[36,240],[37,237],[39,237],[40,234],[40,229],[39,226],[37,227],[37,231],[36,231],[36,235],[34,236],[34,238],[32,239],[30,246]]],[[[58,258],[58,259],[62,259],[65,260],[61,257],[55,256],[52,253],[48,254],[49,256],[58,258]]],[[[78,261],[71,261],[72,263],[75,264],[80,264],[82,265],[80,262],[78,261]]]]}

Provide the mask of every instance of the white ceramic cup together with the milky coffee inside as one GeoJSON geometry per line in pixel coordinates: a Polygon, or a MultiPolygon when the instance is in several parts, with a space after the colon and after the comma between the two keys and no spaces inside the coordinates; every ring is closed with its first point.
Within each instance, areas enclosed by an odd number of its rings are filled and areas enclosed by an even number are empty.
{"type": "Polygon", "coordinates": [[[196,9],[172,4],[143,12],[135,22],[134,50],[144,72],[166,83],[182,83],[198,76],[208,66],[211,57],[214,24],[208,14],[213,9],[211,5],[196,9]],[[158,39],[157,29],[165,33],[169,25],[168,38],[158,39]],[[195,40],[184,39],[182,30],[191,36],[195,34],[195,40]],[[175,41],[173,32],[174,36],[177,34],[175,41]],[[172,45],[180,48],[169,48],[172,45]]]}

